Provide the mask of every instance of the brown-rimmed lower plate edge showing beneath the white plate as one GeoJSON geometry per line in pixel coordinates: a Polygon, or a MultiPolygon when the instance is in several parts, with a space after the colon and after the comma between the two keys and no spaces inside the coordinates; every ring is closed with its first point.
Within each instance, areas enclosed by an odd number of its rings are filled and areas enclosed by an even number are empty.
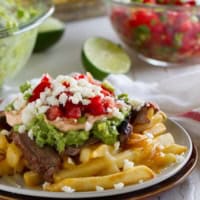
{"type": "MultiPolygon", "coordinates": [[[[112,197],[98,197],[93,198],[95,200],[98,199],[104,199],[104,200],[122,200],[122,199],[128,199],[128,200],[144,200],[150,197],[154,197],[160,193],[163,193],[165,191],[168,191],[172,189],[173,187],[177,186],[178,184],[182,183],[194,170],[196,164],[198,161],[198,150],[195,145],[193,145],[192,155],[189,159],[189,161],[186,163],[186,165],[173,177],[168,178],[167,180],[156,184],[154,186],[151,186],[146,189],[141,189],[139,191],[135,192],[129,192],[122,195],[114,195],[112,197]]],[[[40,198],[40,197],[30,197],[25,195],[17,195],[13,193],[3,192],[0,191],[0,200],[55,200],[53,198],[40,198]]],[[[69,198],[66,198],[67,200],[70,200],[69,198]]],[[[92,198],[83,198],[82,200],[86,199],[92,199],[92,198]]],[[[73,199],[74,200],[74,199],[73,199]]]]}

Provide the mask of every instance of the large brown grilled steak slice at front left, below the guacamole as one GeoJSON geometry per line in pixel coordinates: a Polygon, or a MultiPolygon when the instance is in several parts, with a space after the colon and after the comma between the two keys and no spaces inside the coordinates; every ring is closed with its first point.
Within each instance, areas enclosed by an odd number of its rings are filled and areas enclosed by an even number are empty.
{"type": "Polygon", "coordinates": [[[59,154],[49,147],[40,148],[27,134],[13,134],[14,143],[20,147],[31,170],[45,181],[52,182],[53,174],[61,167],[59,154]]]}

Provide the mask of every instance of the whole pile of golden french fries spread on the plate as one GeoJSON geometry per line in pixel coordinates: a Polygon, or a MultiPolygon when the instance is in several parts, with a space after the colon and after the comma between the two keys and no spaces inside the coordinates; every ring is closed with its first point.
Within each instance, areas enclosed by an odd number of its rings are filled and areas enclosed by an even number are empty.
{"type": "Polygon", "coordinates": [[[166,116],[161,111],[148,109],[146,124],[134,125],[126,148],[118,143],[113,146],[98,144],[84,147],[77,162],[65,156],[62,169],[54,174],[53,183],[45,183],[40,175],[26,170],[26,161],[20,149],[0,135],[0,176],[23,174],[27,186],[43,184],[43,189],[63,191],[64,187],[75,191],[95,191],[97,187],[112,189],[115,184],[132,185],[153,179],[162,169],[177,162],[177,155],[187,147],[175,143],[167,132],[166,116]],[[126,165],[126,163],[129,165],[126,165]]]}

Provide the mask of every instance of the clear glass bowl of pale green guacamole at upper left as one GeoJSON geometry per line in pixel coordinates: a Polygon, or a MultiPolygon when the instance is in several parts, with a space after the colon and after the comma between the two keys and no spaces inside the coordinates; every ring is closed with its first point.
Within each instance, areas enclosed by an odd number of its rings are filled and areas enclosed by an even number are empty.
{"type": "Polygon", "coordinates": [[[0,87],[25,66],[38,27],[53,11],[51,0],[0,0],[0,87]]]}

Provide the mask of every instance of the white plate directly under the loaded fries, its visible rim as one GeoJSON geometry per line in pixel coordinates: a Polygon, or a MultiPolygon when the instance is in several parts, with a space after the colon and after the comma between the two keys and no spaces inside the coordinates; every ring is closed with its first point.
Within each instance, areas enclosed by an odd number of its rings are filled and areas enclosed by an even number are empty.
{"type": "MultiPolygon", "coordinates": [[[[189,160],[191,153],[192,153],[192,141],[189,136],[189,134],[186,132],[184,128],[182,128],[178,123],[167,120],[166,122],[167,130],[171,132],[175,138],[175,141],[178,144],[184,145],[188,147],[188,152],[184,155],[185,159],[181,163],[174,164],[167,168],[166,170],[162,171],[161,174],[159,174],[156,178],[146,181],[144,183],[126,186],[121,190],[105,190],[102,192],[74,192],[72,194],[70,193],[64,193],[64,192],[46,192],[41,190],[33,190],[26,188],[22,182],[18,183],[20,184],[20,187],[13,186],[13,183],[16,182],[16,180],[13,181],[12,179],[6,180],[5,178],[0,179],[0,190],[14,193],[14,194],[23,194],[27,196],[34,196],[34,197],[48,197],[48,198],[56,198],[56,199],[81,199],[81,198],[95,198],[95,197],[108,197],[113,195],[119,195],[119,194],[125,194],[137,190],[141,190],[150,186],[153,186],[155,184],[158,184],[173,175],[175,175],[179,170],[181,170],[184,165],[189,160]]],[[[15,177],[16,178],[16,177],[15,177]]]]}

